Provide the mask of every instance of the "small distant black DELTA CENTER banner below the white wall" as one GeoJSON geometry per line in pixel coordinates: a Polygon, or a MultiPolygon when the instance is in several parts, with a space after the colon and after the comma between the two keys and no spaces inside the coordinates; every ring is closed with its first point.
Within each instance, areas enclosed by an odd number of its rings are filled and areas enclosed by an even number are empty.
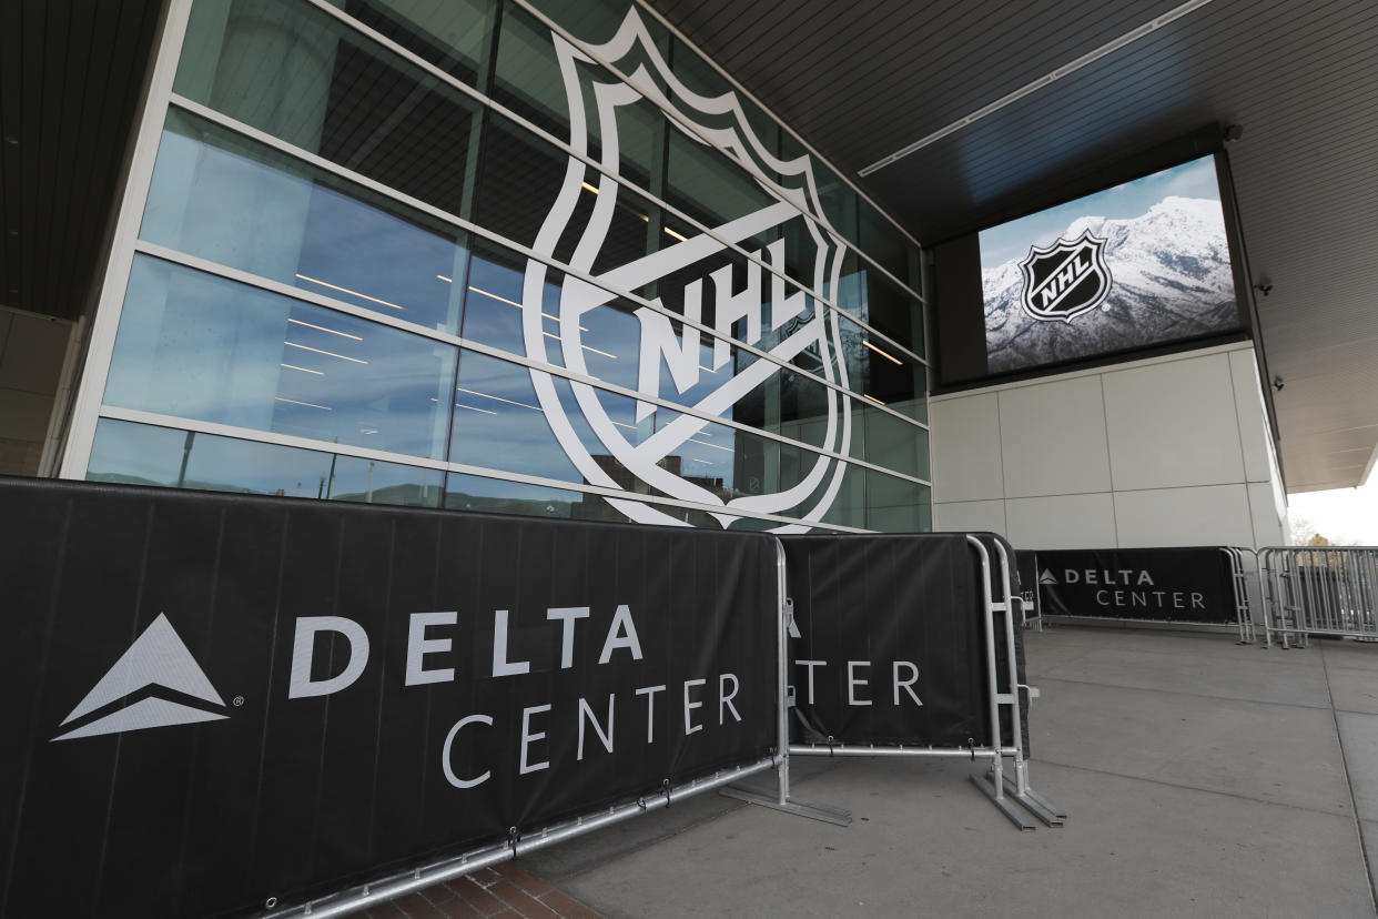
{"type": "Polygon", "coordinates": [[[1038,590],[1050,616],[1233,624],[1235,586],[1218,547],[1038,553],[1038,590]]]}

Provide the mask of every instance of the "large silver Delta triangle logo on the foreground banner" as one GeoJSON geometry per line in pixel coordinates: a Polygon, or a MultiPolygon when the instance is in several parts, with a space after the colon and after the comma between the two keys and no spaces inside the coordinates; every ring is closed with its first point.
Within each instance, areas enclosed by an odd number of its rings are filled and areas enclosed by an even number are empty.
{"type": "MultiPolygon", "coordinates": [[[[114,667],[101,678],[101,682],[87,693],[85,699],[77,703],[77,707],[62,723],[69,725],[149,686],[163,686],[225,707],[220,694],[215,692],[205,671],[192,657],[192,652],[178,637],[172,623],[164,613],[158,613],[158,617],[130,645],[120,660],[114,661],[114,667]]],[[[127,730],[192,725],[220,718],[227,718],[227,715],[158,696],[143,696],[131,705],[117,708],[103,718],[74,727],[52,740],[119,734],[127,730]]]]}

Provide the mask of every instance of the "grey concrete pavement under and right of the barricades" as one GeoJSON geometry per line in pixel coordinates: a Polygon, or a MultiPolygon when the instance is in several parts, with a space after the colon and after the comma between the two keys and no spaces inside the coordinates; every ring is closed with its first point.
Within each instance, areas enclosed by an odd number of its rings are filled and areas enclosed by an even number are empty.
{"type": "Polygon", "coordinates": [[[1065,827],[1018,832],[960,761],[794,761],[841,828],[708,795],[522,868],[619,916],[1374,916],[1378,646],[1028,635],[1032,781],[1065,827]]]}

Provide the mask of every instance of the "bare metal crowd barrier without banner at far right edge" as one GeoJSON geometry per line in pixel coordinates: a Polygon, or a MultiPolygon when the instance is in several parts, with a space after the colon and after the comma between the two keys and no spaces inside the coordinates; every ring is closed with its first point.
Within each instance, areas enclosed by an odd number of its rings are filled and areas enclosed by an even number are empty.
{"type": "Polygon", "coordinates": [[[1309,646],[1312,635],[1378,641],[1378,548],[1275,546],[1258,553],[1265,643],[1309,646]]]}

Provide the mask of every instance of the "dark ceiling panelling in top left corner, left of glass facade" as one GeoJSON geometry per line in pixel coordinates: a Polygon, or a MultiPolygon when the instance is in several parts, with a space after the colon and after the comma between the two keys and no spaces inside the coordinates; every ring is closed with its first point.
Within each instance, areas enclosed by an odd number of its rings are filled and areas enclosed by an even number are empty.
{"type": "Polygon", "coordinates": [[[161,7],[0,4],[0,304],[88,304],[161,7]]]}

